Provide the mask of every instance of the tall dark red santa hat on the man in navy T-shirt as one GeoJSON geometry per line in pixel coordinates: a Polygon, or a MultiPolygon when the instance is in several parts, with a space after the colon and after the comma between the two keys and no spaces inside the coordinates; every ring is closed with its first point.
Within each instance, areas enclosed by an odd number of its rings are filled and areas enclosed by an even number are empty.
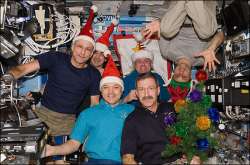
{"type": "Polygon", "coordinates": [[[93,23],[93,20],[95,18],[95,13],[97,12],[97,10],[98,10],[97,6],[95,6],[95,5],[91,6],[90,12],[89,12],[89,18],[88,18],[85,26],[82,28],[81,32],[79,33],[79,35],[73,39],[73,42],[72,42],[73,44],[77,40],[84,40],[84,41],[91,42],[91,44],[95,48],[95,40],[94,40],[94,36],[93,36],[92,23],[93,23]]]}

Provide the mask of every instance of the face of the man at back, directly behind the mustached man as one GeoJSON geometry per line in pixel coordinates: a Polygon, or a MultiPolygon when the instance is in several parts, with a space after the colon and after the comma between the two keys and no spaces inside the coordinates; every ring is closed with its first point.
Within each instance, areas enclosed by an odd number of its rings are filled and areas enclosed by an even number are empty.
{"type": "Polygon", "coordinates": [[[135,60],[134,66],[138,73],[147,73],[152,68],[152,61],[149,58],[138,58],[135,60]]]}

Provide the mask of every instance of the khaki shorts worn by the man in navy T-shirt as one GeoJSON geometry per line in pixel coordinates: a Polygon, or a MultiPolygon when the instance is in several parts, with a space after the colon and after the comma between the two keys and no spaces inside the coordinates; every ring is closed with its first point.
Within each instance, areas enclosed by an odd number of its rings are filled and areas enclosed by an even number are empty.
{"type": "Polygon", "coordinates": [[[69,135],[75,123],[74,114],[54,112],[44,106],[36,108],[35,113],[47,124],[51,136],[69,135]]]}

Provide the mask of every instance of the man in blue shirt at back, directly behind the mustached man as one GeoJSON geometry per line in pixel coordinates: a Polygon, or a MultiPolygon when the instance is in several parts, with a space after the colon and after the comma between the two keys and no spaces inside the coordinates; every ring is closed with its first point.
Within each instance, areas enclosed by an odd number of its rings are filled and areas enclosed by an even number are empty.
{"type": "MultiPolygon", "coordinates": [[[[135,80],[140,74],[152,72],[152,65],[154,60],[152,52],[147,49],[140,48],[139,44],[137,45],[137,47],[139,48],[135,50],[135,53],[132,55],[132,61],[135,70],[124,78],[123,102],[132,103],[133,105],[138,105],[138,99],[135,94],[135,80]]],[[[157,78],[161,88],[159,99],[168,101],[170,99],[170,94],[168,93],[168,90],[164,85],[164,80],[159,74],[153,74],[157,78]]]]}

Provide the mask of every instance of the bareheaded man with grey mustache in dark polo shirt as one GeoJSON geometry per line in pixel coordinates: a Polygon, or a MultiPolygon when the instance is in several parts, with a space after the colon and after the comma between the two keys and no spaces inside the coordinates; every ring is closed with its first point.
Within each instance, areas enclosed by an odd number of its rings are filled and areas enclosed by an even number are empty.
{"type": "MultiPolygon", "coordinates": [[[[158,102],[160,87],[152,73],[136,79],[136,95],[141,103],[125,120],[121,155],[124,164],[164,164],[177,159],[163,159],[167,144],[165,127],[176,120],[174,107],[169,102],[158,102]],[[166,120],[168,119],[168,120],[166,120]]],[[[195,157],[193,163],[200,163],[195,157]]]]}

